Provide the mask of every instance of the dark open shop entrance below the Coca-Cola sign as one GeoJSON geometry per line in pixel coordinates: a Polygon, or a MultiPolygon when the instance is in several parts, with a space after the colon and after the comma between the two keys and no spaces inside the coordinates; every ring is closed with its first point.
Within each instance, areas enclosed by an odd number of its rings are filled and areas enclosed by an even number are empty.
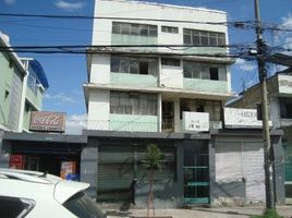
{"type": "Polygon", "coordinates": [[[81,146],[66,143],[12,142],[10,168],[47,172],[78,180],[81,146]]]}

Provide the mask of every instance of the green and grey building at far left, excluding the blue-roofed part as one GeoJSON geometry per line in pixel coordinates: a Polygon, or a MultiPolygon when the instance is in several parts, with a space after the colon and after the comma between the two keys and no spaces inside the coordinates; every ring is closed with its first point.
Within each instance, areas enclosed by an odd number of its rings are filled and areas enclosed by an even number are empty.
{"type": "MultiPolygon", "coordinates": [[[[9,37],[1,33],[0,46],[10,47],[9,37]]],[[[0,130],[22,131],[26,75],[24,64],[12,49],[0,52],[0,130]]]]}

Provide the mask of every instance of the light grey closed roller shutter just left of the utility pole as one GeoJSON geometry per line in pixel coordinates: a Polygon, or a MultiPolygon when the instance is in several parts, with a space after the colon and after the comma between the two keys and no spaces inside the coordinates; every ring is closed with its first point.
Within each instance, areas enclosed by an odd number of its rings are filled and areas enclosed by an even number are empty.
{"type": "Polygon", "coordinates": [[[246,201],[265,201],[264,148],[260,143],[216,144],[216,182],[245,179],[246,201]]]}

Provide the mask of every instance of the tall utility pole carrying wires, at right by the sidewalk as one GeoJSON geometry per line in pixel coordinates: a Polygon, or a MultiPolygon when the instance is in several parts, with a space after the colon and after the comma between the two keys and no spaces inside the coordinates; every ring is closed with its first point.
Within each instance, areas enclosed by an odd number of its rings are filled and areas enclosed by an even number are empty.
{"type": "Polygon", "coordinates": [[[256,45],[257,45],[257,65],[258,76],[261,87],[261,116],[263,116],[263,137],[264,137],[264,165],[265,165],[265,184],[266,184],[266,207],[275,209],[273,197],[273,172],[271,160],[271,143],[269,133],[269,116],[268,116],[268,97],[267,97],[267,72],[265,68],[265,59],[267,47],[263,40],[263,26],[259,15],[258,0],[255,3],[255,19],[256,19],[256,45]]]}

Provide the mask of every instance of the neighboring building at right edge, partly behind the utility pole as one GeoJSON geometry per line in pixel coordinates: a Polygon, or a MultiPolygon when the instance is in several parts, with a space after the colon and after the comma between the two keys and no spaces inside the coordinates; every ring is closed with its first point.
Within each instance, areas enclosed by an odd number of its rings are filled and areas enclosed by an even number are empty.
{"type": "MultiPolygon", "coordinates": [[[[292,65],[292,60],[291,60],[292,65]]],[[[284,149],[283,159],[276,165],[284,162],[284,184],[287,202],[292,202],[292,68],[276,73],[267,80],[269,117],[272,129],[284,131],[282,146],[284,149]]],[[[259,109],[261,104],[260,85],[256,84],[232,101],[228,107],[259,109]]]]}

